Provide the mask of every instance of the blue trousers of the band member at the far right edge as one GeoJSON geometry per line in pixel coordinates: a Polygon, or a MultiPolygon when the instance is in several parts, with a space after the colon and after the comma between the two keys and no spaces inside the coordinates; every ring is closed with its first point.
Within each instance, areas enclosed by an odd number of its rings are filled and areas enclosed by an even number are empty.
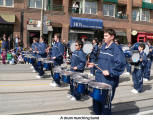
{"type": "Polygon", "coordinates": [[[144,76],[143,76],[144,78],[147,78],[148,80],[150,79],[151,64],[152,64],[152,61],[148,60],[145,71],[144,71],[144,76]]]}

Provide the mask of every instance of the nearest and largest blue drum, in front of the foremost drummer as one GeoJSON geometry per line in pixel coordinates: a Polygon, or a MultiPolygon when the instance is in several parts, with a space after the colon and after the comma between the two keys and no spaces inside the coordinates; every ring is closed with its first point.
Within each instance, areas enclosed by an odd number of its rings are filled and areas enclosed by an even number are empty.
{"type": "Polygon", "coordinates": [[[112,87],[106,83],[89,82],[89,95],[99,102],[106,102],[107,98],[111,99],[112,87]]]}

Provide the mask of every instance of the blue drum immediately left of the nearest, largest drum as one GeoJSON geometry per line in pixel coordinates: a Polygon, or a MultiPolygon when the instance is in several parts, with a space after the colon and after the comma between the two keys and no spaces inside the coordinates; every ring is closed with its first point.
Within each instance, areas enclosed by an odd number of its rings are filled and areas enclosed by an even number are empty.
{"type": "Polygon", "coordinates": [[[73,80],[74,89],[80,94],[88,94],[89,82],[91,82],[90,79],[74,79],[73,80]]]}

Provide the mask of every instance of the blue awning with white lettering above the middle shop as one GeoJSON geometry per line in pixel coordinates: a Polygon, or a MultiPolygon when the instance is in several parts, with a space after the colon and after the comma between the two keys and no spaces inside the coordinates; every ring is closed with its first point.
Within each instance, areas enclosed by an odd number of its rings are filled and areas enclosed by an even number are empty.
{"type": "Polygon", "coordinates": [[[70,27],[71,28],[103,29],[103,21],[100,19],[71,17],[70,27]]]}

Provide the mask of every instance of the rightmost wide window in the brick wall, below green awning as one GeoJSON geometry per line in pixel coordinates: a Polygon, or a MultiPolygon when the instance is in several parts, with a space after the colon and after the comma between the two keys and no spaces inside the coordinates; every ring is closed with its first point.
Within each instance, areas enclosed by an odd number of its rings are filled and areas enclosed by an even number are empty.
{"type": "Polygon", "coordinates": [[[144,9],[133,9],[132,11],[132,18],[134,21],[146,21],[149,22],[150,20],[150,11],[144,9]]]}

